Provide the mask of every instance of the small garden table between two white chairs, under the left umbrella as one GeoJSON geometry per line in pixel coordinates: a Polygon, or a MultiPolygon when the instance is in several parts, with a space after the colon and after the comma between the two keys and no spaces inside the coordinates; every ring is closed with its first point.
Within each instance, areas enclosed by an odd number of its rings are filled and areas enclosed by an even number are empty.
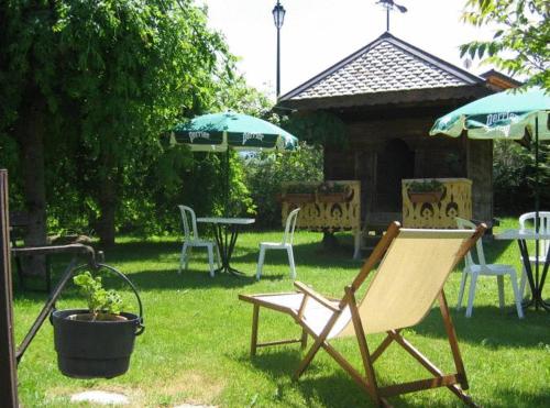
{"type": "Polygon", "coordinates": [[[243,275],[242,272],[232,268],[230,265],[231,255],[235,247],[237,238],[239,236],[239,229],[242,225],[253,224],[256,220],[254,218],[224,218],[224,217],[201,217],[197,218],[197,222],[213,224],[213,234],[216,243],[220,251],[221,267],[216,272],[226,272],[232,275],[243,275]]]}

